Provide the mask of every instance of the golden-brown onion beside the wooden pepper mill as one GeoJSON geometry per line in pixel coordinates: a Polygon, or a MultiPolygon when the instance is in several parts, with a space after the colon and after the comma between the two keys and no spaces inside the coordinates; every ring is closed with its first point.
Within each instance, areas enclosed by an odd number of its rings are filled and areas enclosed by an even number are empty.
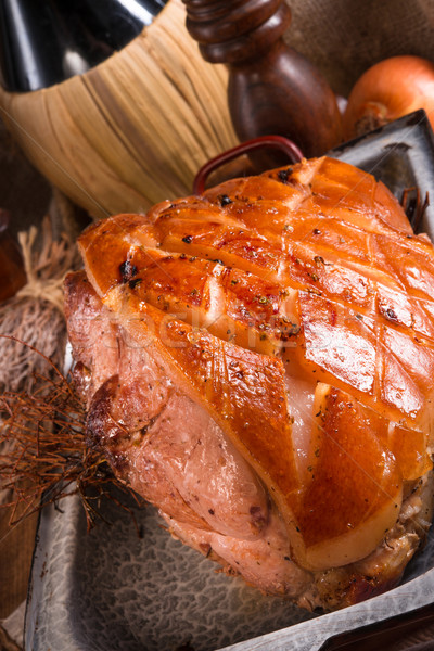
{"type": "Polygon", "coordinates": [[[392,56],[356,81],[343,116],[349,140],[403,115],[424,108],[434,128],[434,63],[420,56],[392,56]]]}

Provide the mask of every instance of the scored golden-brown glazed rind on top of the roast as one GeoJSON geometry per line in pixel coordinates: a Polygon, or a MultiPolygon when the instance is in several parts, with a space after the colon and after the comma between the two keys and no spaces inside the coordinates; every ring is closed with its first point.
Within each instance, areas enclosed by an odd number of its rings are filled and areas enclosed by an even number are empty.
{"type": "Polygon", "coordinates": [[[307,161],[110,218],[79,244],[116,328],[266,487],[291,558],[322,572],[373,553],[432,465],[434,252],[388,191],[307,161]]]}

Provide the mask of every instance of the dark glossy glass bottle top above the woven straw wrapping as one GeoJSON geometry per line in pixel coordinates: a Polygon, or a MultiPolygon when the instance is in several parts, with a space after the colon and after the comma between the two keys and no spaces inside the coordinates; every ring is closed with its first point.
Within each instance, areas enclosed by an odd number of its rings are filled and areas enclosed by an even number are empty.
{"type": "Polygon", "coordinates": [[[130,42],[167,0],[2,0],[3,88],[28,92],[86,73],[130,42]]]}

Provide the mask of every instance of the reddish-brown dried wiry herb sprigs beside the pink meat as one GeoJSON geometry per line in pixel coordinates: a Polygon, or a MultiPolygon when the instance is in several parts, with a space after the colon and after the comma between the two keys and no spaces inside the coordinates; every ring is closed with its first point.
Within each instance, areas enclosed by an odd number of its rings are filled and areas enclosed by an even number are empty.
{"type": "Polygon", "coordinates": [[[84,405],[68,379],[54,370],[52,379],[35,374],[31,393],[0,396],[0,490],[8,493],[0,508],[11,509],[14,525],[44,505],[78,493],[89,531],[102,518],[103,496],[130,511],[110,485],[126,495],[132,492],[114,477],[104,457],[87,446],[84,405]]]}

